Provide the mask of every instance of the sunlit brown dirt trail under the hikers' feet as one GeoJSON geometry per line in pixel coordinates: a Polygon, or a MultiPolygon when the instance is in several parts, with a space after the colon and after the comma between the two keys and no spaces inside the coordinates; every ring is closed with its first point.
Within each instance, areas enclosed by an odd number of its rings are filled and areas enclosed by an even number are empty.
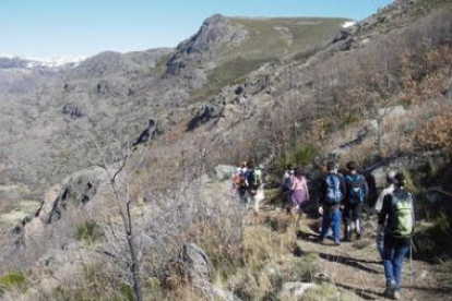
{"type": "MultiPolygon", "coordinates": [[[[301,220],[297,234],[304,252],[319,254],[322,277],[338,288],[353,291],[356,300],[386,300],[382,293],[385,285],[383,266],[372,233],[369,231],[361,240],[343,242],[340,246],[334,246],[332,240],[320,244],[318,233],[312,230],[318,224],[313,219],[301,220]]],[[[407,260],[403,268],[401,300],[452,300],[452,289],[441,285],[433,265],[414,260],[413,282],[411,270],[407,260]]]]}

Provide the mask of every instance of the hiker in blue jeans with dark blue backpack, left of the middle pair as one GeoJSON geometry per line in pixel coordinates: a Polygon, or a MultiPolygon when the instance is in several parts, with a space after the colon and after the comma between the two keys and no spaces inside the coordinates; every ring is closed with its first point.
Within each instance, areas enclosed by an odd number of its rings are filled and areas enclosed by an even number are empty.
{"type": "Polygon", "coordinates": [[[344,177],[337,173],[337,167],[333,161],[326,164],[326,174],[322,179],[320,189],[319,213],[322,215],[322,231],[320,242],[323,242],[326,233],[333,228],[334,244],[341,244],[342,206],[345,195],[344,177]]]}

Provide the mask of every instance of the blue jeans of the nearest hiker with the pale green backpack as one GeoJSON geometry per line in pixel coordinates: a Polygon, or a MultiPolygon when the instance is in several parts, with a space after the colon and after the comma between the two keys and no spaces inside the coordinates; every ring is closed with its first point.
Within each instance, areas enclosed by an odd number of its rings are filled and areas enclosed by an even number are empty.
{"type": "Polygon", "coordinates": [[[395,282],[396,288],[401,287],[402,267],[406,255],[409,252],[409,244],[399,243],[385,236],[383,246],[383,266],[386,285],[395,282]]]}

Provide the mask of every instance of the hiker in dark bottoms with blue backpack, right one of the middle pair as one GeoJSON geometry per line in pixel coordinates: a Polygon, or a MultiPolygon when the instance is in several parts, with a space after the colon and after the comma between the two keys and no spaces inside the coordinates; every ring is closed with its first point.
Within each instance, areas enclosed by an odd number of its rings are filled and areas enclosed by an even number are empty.
{"type": "Polygon", "coordinates": [[[369,195],[369,186],[366,178],[358,173],[357,164],[349,161],[347,164],[348,174],[345,176],[345,184],[347,186],[345,205],[344,205],[344,238],[345,241],[352,241],[352,225],[355,225],[355,233],[357,239],[362,237],[361,213],[362,204],[369,195]]]}

